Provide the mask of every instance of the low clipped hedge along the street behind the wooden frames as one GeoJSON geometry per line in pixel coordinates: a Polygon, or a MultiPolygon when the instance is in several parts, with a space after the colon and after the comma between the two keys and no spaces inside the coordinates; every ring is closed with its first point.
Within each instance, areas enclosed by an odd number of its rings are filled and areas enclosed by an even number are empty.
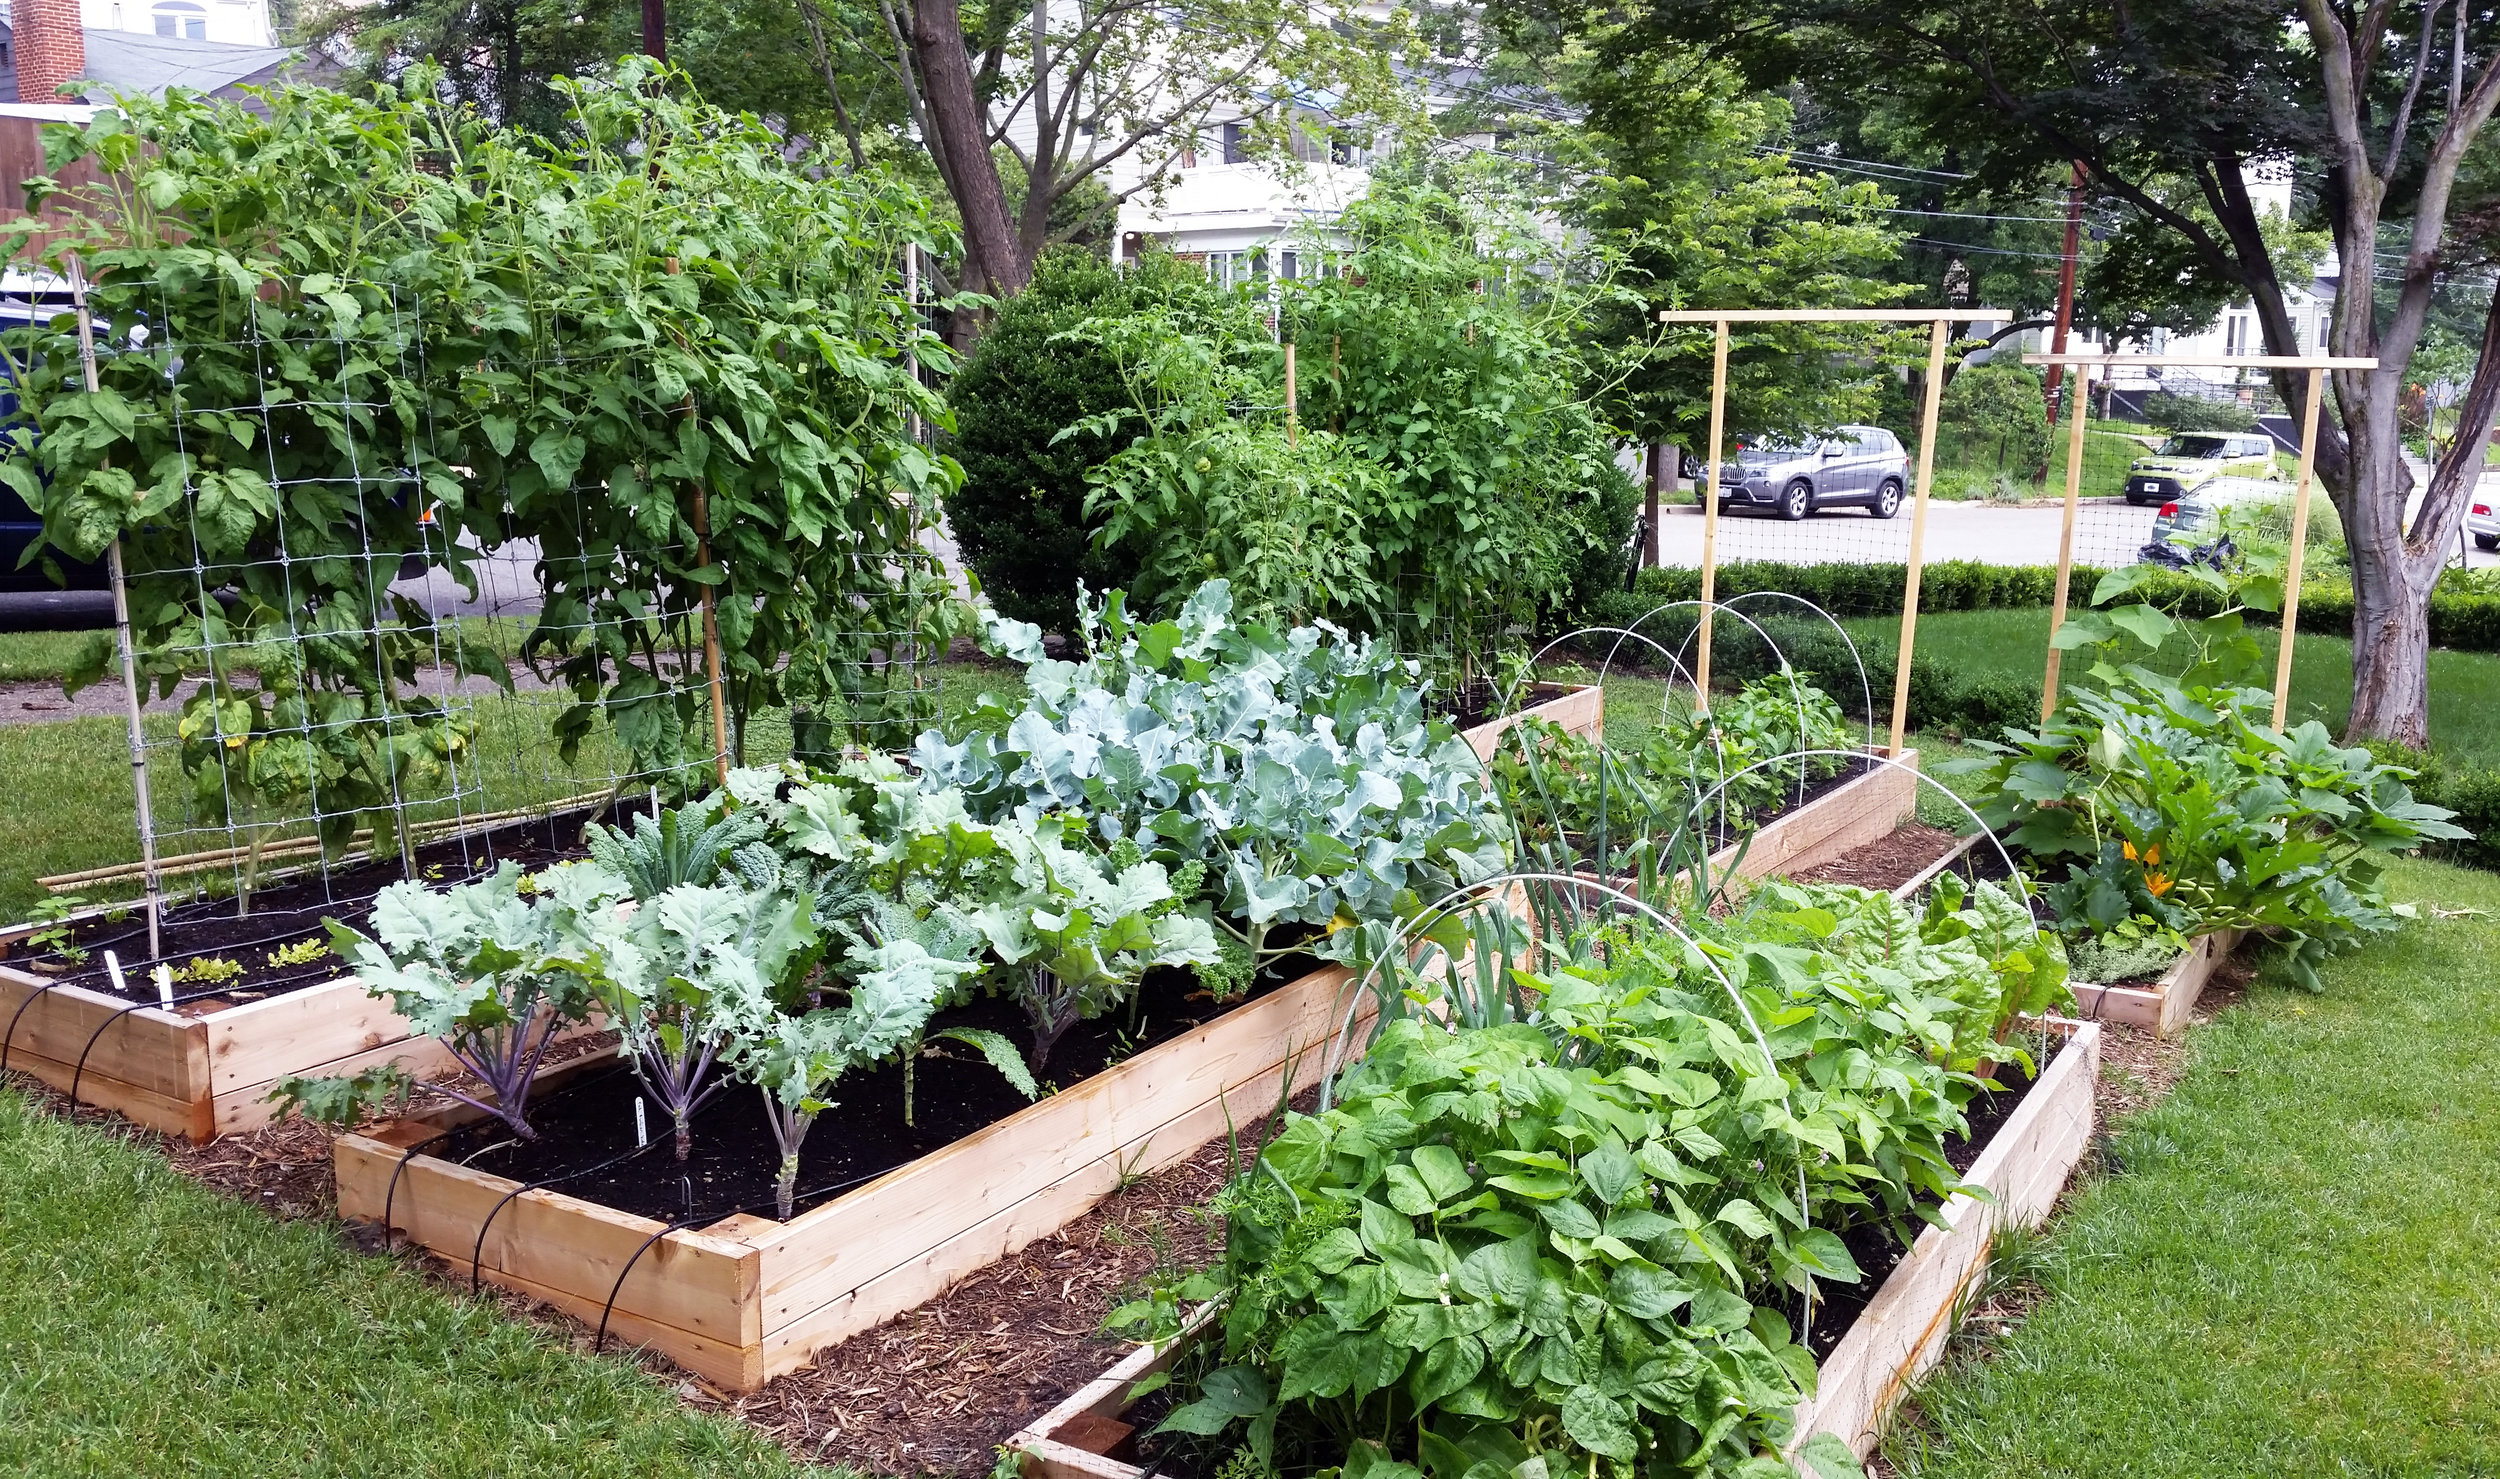
{"type": "MultiPolygon", "coordinates": [[[[2085,605],[2102,572],[2075,567],[2070,600],[2085,605]]],[[[1772,560],[1748,560],[1720,565],[1718,600],[1758,590],[1785,590],[1800,595],[1835,617],[1890,617],[1900,612],[1900,592],[1908,580],[1905,565],[1780,565],[1772,560]]],[[[2215,610],[2215,597],[2185,577],[2155,577],[2140,587],[2148,600],[2198,617],[2215,610]]],[[[2045,607],[2058,592],[2058,570],[2050,565],[1980,565],[1975,560],[1938,560],[1925,567],[1918,582],[1920,612],[1978,612],[1988,607],[2045,607]]],[[[1685,567],[1642,570],[1635,590],[1620,592],[1628,600],[1608,597],[1592,602],[1592,620],[1602,607],[1608,620],[1622,612],[1640,615],[1650,607],[1680,600],[1700,600],[1702,572],[1685,567]],[[1632,602],[1642,605],[1632,605],[1632,602]]],[[[2300,630],[2315,637],[2352,635],[2352,585],[2342,575],[2320,575],[2300,587],[2300,630]]],[[[2442,585],[2430,597],[2430,642],[2458,652],[2500,652],[2500,595],[2442,585]]]]}

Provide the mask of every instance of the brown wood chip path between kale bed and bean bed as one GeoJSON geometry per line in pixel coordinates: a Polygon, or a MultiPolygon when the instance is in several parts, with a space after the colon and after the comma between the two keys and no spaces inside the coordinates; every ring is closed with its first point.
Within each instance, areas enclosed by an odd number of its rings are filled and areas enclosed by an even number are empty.
{"type": "MultiPolygon", "coordinates": [[[[1242,1134],[1242,1154],[1252,1147],[1242,1134]]],[[[1102,1317],[1152,1277],[1222,1257],[1208,1202],[1230,1174],[1222,1139],[1108,1197],[1058,1237],[935,1302],[820,1352],[815,1364],[725,1404],[798,1459],[870,1474],[980,1477],[998,1444],[1100,1377],[1128,1342],[1102,1317]]]]}

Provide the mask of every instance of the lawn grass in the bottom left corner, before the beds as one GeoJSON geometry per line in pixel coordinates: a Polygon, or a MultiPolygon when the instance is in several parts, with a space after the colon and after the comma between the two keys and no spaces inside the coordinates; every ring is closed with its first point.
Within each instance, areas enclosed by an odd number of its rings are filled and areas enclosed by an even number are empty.
{"type": "Polygon", "coordinates": [[[0,1089],[0,1472],[802,1474],[618,1357],[0,1089]]]}

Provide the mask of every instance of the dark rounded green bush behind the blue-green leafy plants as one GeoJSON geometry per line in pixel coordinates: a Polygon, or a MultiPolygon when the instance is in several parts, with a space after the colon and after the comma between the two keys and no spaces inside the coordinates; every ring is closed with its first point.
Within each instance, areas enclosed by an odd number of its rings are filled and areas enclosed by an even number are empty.
{"type": "Polygon", "coordinates": [[[1100,520],[1085,517],[1085,472],[1128,435],[1052,437],[1130,405],[1118,360],[1068,330],[1140,310],[1208,317],[1215,287],[1200,267],[1165,255],[1120,272],[1092,252],[1050,252],[948,390],[948,450],[962,462],[962,487],[945,500],[955,547],[1000,615],[1045,632],[1075,630],[1080,580],[1102,592],[1138,577],[1138,555],[1098,550],[1100,520]]]}

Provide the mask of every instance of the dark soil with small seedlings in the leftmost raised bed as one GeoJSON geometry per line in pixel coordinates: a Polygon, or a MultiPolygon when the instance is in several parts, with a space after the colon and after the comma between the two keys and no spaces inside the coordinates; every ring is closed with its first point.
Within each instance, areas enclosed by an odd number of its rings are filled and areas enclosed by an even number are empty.
{"type": "MultiPolygon", "coordinates": [[[[450,887],[482,877],[500,862],[548,867],[582,857],[582,822],[600,814],[595,807],[575,809],[428,842],[415,849],[418,877],[430,887],[450,887]]],[[[352,862],[328,872],[310,869],[252,889],[252,912],[240,919],[232,897],[168,904],[162,917],[165,954],[158,959],[175,972],[200,959],[228,959],[242,967],[242,974],[215,982],[175,979],[175,999],[190,1014],[335,982],[342,964],[332,954],[305,964],[275,964],[270,957],[308,939],[328,947],[330,932],[322,929],[322,919],[342,919],[362,929],[372,917],[372,897],[405,877],[398,857],[352,862]]],[[[122,919],[88,919],[72,929],[70,939],[88,952],[85,962],[28,954],[12,957],[10,964],[125,1002],[158,999],[158,959],[148,954],[148,914],[142,909],[132,907],[122,919]],[[105,967],[108,949],[120,959],[128,989],[115,989],[112,972],[105,967]]]]}

